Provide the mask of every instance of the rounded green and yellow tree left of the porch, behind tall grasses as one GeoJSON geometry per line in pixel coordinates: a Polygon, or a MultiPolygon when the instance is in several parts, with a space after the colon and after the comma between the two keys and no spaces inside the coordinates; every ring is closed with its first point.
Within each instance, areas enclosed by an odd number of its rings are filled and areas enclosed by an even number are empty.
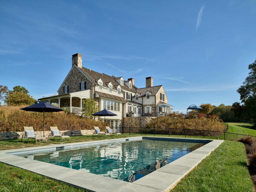
{"type": "Polygon", "coordinates": [[[12,91],[8,91],[5,94],[5,103],[7,105],[32,105],[37,101],[28,94],[28,90],[25,87],[15,86],[12,91]]]}

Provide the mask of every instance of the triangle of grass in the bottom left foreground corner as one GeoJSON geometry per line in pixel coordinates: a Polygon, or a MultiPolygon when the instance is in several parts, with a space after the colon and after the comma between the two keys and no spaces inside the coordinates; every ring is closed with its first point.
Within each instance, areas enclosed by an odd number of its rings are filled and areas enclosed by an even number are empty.
{"type": "Polygon", "coordinates": [[[3,192],[83,192],[61,181],[0,163],[0,191],[3,192]]]}

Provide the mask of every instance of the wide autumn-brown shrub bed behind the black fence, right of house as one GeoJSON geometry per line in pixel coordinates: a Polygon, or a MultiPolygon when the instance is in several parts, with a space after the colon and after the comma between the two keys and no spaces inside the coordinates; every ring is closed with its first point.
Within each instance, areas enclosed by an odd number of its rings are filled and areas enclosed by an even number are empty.
{"type": "Polygon", "coordinates": [[[185,119],[172,117],[157,117],[146,125],[148,128],[178,128],[178,129],[198,129],[209,131],[225,131],[224,123],[214,119],[185,119]]]}

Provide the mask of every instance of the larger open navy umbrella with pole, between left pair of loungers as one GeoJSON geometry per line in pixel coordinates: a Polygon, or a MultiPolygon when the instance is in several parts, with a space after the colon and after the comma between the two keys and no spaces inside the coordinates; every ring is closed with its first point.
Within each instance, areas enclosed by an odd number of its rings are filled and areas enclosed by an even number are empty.
{"type": "MultiPolygon", "coordinates": [[[[21,110],[24,111],[33,111],[33,112],[59,112],[59,111],[63,111],[61,108],[59,107],[55,107],[45,101],[36,103],[34,105],[28,106],[28,107],[24,107],[21,108],[21,110]]],[[[44,121],[44,120],[43,120],[44,121]]],[[[43,124],[44,129],[45,129],[45,124],[43,124]]]]}

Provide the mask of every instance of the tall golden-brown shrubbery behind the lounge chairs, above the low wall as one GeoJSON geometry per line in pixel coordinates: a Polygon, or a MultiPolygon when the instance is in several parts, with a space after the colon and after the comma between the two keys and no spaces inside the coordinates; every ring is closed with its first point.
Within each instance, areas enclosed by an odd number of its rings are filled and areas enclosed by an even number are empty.
{"type": "MultiPolygon", "coordinates": [[[[33,126],[35,131],[41,131],[43,113],[22,111],[23,106],[0,106],[0,132],[24,131],[23,126],[33,126]]],[[[45,113],[45,128],[58,126],[60,130],[94,129],[94,126],[104,128],[103,121],[81,118],[65,112],[45,113]]]]}

